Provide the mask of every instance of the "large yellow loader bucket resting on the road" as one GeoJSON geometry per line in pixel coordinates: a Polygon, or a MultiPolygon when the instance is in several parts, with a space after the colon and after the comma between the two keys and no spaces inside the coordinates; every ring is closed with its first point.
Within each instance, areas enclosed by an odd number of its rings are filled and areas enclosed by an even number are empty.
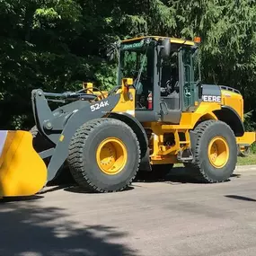
{"type": "Polygon", "coordinates": [[[31,196],[47,181],[47,167],[28,131],[0,131],[0,198],[31,196]]]}

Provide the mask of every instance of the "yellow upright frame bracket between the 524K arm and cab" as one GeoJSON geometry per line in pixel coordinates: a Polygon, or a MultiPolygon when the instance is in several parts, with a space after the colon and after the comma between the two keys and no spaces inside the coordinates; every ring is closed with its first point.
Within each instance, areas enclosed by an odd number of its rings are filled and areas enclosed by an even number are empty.
{"type": "Polygon", "coordinates": [[[118,104],[114,107],[112,112],[128,112],[132,116],[135,116],[135,89],[128,86],[133,84],[131,78],[122,79],[122,87],[117,93],[120,93],[120,99],[118,104]],[[126,86],[127,84],[127,86],[126,86]]]}

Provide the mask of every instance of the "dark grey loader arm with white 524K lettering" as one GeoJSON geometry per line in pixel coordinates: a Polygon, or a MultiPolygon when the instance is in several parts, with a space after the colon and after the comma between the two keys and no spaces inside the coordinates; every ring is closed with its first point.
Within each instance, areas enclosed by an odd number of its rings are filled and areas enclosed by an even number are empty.
{"type": "Polygon", "coordinates": [[[32,91],[32,108],[36,125],[40,133],[55,145],[48,152],[40,153],[42,158],[51,155],[48,166],[48,181],[51,181],[66,161],[69,144],[76,129],[89,120],[104,117],[113,110],[119,103],[120,93],[98,102],[86,101],[86,99],[93,100],[95,96],[84,93],[80,95],[82,97],[80,100],[76,99],[75,102],[68,103],[54,111],[49,108],[47,99],[49,96],[65,98],[66,94],[44,93],[40,89],[32,91]]]}

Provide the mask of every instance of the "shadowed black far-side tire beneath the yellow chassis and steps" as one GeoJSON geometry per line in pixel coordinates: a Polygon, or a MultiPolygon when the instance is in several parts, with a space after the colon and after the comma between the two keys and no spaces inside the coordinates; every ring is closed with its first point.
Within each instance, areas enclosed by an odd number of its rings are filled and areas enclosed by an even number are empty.
{"type": "Polygon", "coordinates": [[[137,172],[137,181],[164,181],[173,165],[173,163],[154,164],[151,172],[143,170],[137,172]]]}

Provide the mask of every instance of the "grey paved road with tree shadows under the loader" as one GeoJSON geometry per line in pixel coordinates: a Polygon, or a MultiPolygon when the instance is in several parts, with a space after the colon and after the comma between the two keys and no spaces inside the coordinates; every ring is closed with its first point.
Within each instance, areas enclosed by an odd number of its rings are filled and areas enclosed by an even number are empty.
{"type": "Polygon", "coordinates": [[[135,182],[90,194],[49,188],[0,204],[1,256],[256,255],[256,170],[222,184],[135,182]]]}

